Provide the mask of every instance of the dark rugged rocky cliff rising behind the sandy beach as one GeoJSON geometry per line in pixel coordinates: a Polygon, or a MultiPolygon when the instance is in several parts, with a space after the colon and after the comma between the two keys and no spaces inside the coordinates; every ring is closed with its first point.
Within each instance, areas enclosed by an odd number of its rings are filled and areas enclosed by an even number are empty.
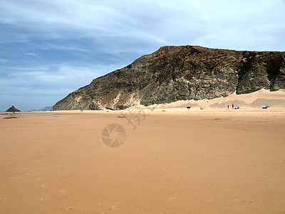
{"type": "Polygon", "coordinates": [[[95,78],[53,110],[126,108],[285,88],[285,52],[165,46],[95,78]]]}

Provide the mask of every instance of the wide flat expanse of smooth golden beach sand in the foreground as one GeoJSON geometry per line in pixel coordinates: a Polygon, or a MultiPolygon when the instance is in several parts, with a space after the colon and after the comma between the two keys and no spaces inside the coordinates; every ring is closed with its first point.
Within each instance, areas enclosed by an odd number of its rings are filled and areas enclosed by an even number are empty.
{"type": "Polygon", "coordinates": [[[267,110],[0,120],[0,213],[284,213],[285,112],[267,110]],[[101,141],[108,123],[123,146],[101,141]]]}

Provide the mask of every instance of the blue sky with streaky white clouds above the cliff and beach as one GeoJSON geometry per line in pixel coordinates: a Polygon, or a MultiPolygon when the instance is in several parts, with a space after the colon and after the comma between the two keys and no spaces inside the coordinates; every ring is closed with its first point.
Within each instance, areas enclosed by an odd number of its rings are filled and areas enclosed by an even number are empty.
{"type": "Polygon", "coordinates": [[[0,111],[53,106],[160,46],[285,51],[285,0],[1,0],[0,111]]]}

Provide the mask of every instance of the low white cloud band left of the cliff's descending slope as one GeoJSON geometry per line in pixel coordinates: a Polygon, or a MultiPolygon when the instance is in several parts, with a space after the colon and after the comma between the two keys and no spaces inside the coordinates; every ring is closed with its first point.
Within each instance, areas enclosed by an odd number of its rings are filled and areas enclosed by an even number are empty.
{"type": "MultiPolygon", "coordinates": [[[[121,68],[120,65],[110,66],[66,66],[51,65],[32,68],[10,68],[11,73],[0,78],[0,91],[9,88],[5,93],[58,93],[57,88],[69,88],[76,90],[89,84],[94,78],[102,76],[109,71],[121,68]],[[24,89],[26,88],[26,89],[24,89]],[[38,90],[37,90],[38,88],[38,90]],[[50,91],[53,88],[55,91],[50,91]]],[[[70,92],[71,92],[70,91],[70,92]]]]}

